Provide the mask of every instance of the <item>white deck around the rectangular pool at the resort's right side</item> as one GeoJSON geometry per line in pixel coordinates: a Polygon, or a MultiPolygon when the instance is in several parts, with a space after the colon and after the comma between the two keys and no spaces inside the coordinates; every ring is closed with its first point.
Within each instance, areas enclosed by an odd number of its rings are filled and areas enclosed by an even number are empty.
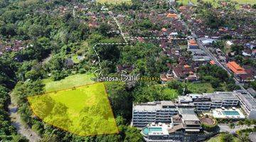
{"type": "Polygon", "coordinates": [[[240,109],[213,109],[213,117],[216,119],[245,119],[245,115],[240,109]],[[225,115],[223,111],[235,111],[236,114],[225,115]]]}

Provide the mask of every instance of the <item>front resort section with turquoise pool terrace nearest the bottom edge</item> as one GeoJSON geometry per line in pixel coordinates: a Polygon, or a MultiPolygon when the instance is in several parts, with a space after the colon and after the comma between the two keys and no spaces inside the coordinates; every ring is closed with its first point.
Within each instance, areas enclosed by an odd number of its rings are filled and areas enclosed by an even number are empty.
{"type": "Polygon", "coordinates": [[[179,109],[170,123],[151,123],[142,129],[145,141],[197,141],[201,123],[193,109],[179,109]]]}

